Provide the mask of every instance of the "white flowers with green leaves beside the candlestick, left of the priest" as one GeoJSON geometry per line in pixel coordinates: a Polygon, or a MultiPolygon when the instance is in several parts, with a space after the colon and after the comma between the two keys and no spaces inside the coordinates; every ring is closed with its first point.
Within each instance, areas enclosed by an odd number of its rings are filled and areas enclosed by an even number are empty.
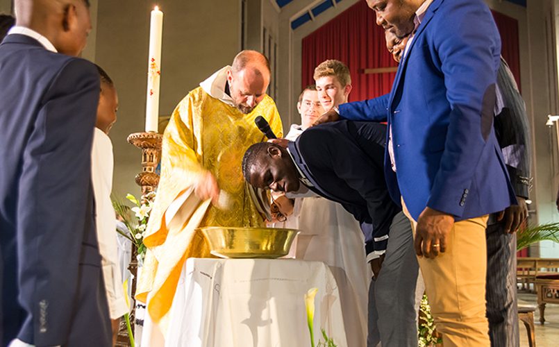
{"type": "Polygon", "coordinates": [[[149,213],[151,212],[155,198],[155,192],[145,194],[140,201],[132,194],[126,194],[126,199],[135,205],[133,208],[130,208],[117,199],[112,200],[112,207],[115,208],[117,214],[122,217],[122,222],[128,229],[128,232],[119,229],[117,229],[117,232],[126,237],[126,239],[129,239],[137,249],[138,266],[142,266],[146,255],[144,232],[146,231],[149,213]],[[133,214],[131,212],[133,212],[133,214]]]}

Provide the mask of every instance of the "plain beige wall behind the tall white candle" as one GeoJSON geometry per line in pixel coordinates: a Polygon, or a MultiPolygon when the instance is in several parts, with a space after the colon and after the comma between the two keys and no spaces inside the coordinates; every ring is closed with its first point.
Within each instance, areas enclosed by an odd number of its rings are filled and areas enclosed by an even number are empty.
{"type": "MultiPolygon", "coordinates": [[[[143,131],[151,0],[99,1],[94,57],[115,81],[119,112],[110,137],[115,151],[113,192],[140,194],[140,149],[126,142],[143,131]]],[[[240,1],[158,0],[164,12],[160,115],[198,83],[231,64],[240,48],[240,1]]]]}

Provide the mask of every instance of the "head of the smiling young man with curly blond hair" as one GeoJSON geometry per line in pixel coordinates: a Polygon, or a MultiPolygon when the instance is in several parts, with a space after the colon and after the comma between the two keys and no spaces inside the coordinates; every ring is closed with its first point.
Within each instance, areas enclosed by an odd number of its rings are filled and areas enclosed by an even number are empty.
{"type": "Polygon", "coordinates": [[[320,103],[325,111],[340,103],[347,103],[351,92],[351,76],[340,60],[326,60],[315,68],[315,82],[320,103]]]}

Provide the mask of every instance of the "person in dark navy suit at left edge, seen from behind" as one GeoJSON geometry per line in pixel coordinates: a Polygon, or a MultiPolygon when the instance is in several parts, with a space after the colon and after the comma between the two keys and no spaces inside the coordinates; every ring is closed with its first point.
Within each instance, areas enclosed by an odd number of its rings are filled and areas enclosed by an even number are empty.
{"type": "Polygon", "coordinates": [[[17,0],[0,44],[1,346],[110,346],[90,157],[86,0],[17,0]]]}

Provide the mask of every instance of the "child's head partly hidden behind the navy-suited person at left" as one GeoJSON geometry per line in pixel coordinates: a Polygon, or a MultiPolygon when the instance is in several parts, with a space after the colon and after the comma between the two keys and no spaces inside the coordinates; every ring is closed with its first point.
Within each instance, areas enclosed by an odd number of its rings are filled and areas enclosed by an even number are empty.
{"type": "Polygon", "coordinates": [[[95,126],[108,134],[112,125],[117,121],[118,95],[115,84],[112,83],[109,75],[99,65],[96,66],[99,78],[101,78],[101,94],[99,95],[95,126]]]}

